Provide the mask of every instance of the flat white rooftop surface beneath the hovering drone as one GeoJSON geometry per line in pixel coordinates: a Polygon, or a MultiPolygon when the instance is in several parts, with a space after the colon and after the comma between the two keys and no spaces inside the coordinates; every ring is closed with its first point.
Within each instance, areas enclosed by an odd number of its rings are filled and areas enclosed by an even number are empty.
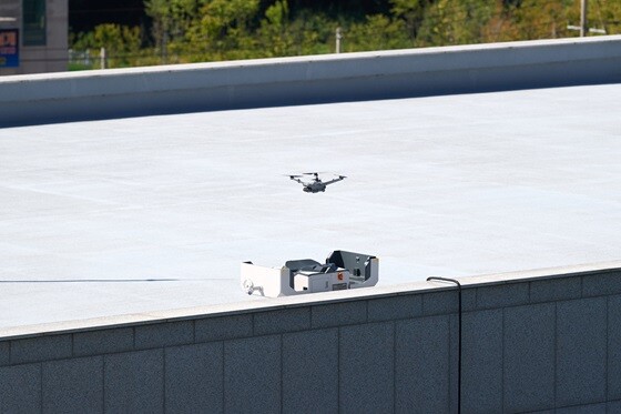
{"type": "Polygon", "coordinates": [[[620,259],[621,84],[0,130],[0,329],[269,301],[240,263],[379,285],[620,259]],[[348,178],[307,194],[285,176],[348,178]]]}

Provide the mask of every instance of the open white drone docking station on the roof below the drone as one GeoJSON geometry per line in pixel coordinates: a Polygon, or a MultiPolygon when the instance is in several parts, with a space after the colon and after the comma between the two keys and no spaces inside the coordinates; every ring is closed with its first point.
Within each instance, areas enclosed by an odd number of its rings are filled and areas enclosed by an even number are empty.
{"type": "Polygon", "coordinates": [[[247,294],[278,297],[375,286],[379,260],[336,250],[322,264],[310,259],[289,260],[282,267],[242,263],[242,287],[247,294]]]}

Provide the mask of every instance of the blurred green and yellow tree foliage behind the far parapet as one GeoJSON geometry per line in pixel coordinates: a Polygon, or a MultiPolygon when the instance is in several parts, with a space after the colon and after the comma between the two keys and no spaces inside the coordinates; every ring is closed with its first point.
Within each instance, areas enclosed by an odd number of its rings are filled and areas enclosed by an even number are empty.
{"type": "MultiPolygon", "coordinates": [[[[111,65],[220,61],[576,37],[580,0],[144,0],[151,31],[100,24],[73,48],[111,65]]],[[[621,1],[599,0],[591,27],[621,32],[621,1]]]]}

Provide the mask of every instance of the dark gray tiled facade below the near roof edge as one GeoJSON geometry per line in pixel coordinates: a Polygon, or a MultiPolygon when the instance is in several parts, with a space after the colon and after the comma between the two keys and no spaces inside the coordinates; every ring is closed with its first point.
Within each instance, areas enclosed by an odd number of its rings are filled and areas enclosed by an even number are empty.
{"type": "MultiPolygon", "coordinates": [[[[601,275],[462,293],[462,413],[620,410],[621,294],[601,275]]],[[[430,286],[6,339],[0,413],[455,413],[457,300],[430,286]]]]}

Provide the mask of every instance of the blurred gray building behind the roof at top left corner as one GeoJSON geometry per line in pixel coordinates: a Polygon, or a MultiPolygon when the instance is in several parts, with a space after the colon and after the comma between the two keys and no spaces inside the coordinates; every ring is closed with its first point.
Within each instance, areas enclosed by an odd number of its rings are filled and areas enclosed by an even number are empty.
{"type": "Polygon", "coordinates": [[[2,0],[0,75],[67,70],[68,24],[68,0],[2,0]]]}

